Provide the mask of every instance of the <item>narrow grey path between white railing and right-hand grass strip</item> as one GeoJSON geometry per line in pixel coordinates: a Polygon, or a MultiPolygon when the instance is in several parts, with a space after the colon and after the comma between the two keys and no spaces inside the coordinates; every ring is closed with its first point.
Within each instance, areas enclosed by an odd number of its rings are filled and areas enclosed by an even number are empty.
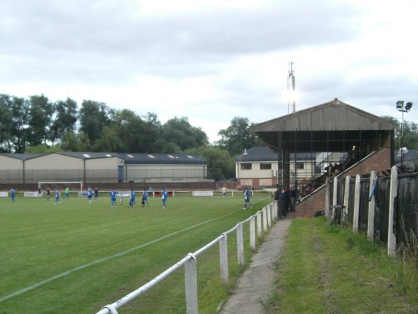
{"type": "Polygon", "coordinates": [[[219,313],[221,314],[261,314],[263,304],[270,299],[274,280],[274,262],[277,261],[286,243],[289,226],[295,213],[288,213],[270,229],[265,241],[254,253],[251,264],[226,300],[219,313]]]}

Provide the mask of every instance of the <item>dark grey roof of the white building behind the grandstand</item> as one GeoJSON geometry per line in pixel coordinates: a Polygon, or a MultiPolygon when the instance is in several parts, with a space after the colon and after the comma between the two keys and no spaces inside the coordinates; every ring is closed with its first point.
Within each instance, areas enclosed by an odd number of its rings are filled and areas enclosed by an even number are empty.
{"type": "MultiPolygon", "coordinates": [[[[297,160],[315,160],[316,154],[311,153],[297,153],[297,160]]],[[[236,161],[238,163],[242,162],[274,162],[277,161],[279,155],[275,153],[268,146],[256,146],[247,150],[244,154],[241,154],[237,157],[236,161]]],[[[295,154],[291,154],[291,160],[294,160],[295,154]]]]}

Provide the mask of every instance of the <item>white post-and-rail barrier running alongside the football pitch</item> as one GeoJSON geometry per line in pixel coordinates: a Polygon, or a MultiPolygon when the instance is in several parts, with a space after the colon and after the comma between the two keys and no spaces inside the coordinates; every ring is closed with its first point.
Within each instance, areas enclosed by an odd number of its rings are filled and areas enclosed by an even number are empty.
{"type": "Polygon", "coordinates": [[[127,304],[129,301],[132,301],[139,295],[146,292],[150,287],[153,287],[162,279],[169,276],[171,273],[179,269],[184,265],[185,267],[185,294],[186,294],[186,308],[187,314],[197,314],[199,313],[198,308],[198,294],[197,294],[197,260],[196,257],[201,253],[208,250],[208,248],[219,243],[219,261],[220,261],[220,276],[222,282],[227,285],[229,281],[229,271],[228,271],[228,234],[231,232],[236,232],[237,238],[237,255],[238,255],[238,264],[240,266],[245,265],[244,259],[244,232],[243,225],[249,223],[249,243],[251,250],[256,250],[256,237],[261,238],[263,232],[267,232],[268,228],[272,226],[272,222],[278,219],[277,214],[277,202],[272,202],[266,207],[257,211],[256,214],[250,216],[244,221],[241,221],[232,229],[224,232],[215,240],[211,241],[206,246],[203,246],[198,251],[194,253],[189,253],[182,260],[178,261],[176,264],[173,264],[169,269],[162,272],[153,280],[149,281],[142,287],[139,287],[137,290],[134,290],[130,294],[127,294],[125,297],[119,299],[118,301],[104,306],[97,314],[117,314],[116,311],[121,306],[127,304]]]}

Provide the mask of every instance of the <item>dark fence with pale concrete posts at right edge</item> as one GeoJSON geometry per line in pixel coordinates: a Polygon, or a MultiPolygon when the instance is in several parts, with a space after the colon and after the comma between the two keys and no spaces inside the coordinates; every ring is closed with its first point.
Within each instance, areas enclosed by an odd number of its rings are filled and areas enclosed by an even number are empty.
{"type": "Polygon", "coordinates": [[[366,232],[369,241],[387,244],[387,254],[396,255],[396,244],[418,239],[418,173],[355,179],[335,177],[327,183],[327,218],[352,225],[353,232],[366,232]],[[412,240],[413,240],[412,239],[412,240]]]}

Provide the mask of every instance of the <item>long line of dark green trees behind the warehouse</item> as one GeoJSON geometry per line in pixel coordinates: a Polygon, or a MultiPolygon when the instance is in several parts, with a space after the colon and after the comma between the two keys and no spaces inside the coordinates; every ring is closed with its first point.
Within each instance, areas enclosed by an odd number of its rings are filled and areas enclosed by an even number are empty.
{"type": "Polygon", "coordinates": [[[213,177],[235,177],[235,158],[263,143],[251,133],[245,117],[234,117],[219,130],[220,140],[173,117],[162,124],[157,114],[116,110],[105,103],[67,98],[52,102],[46,96],[28,98],[0,94],[0,152],[52,153],[59,151],[199,154],[213,168],[213,177]]]}

